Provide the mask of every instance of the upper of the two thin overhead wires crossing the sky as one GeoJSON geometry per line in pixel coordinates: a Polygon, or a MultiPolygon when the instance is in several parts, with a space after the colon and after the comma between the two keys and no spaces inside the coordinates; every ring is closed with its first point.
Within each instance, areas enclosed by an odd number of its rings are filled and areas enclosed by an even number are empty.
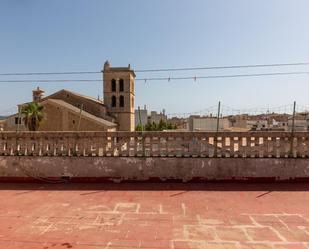
{"type": "MultiPolygon", "coordinates": [[[[251,64],[251,65],[231,65],[231,66],[209,66],[209,67],[183,67],[183,68],[158,68],[158,69],[137,69],[134,72],[173,72],[173,71],[198,71],[198,70],[220,70],[220,69],[240,69],[240,68],[263,68],[263,67],[287,67],[306,66],[309,62],[297,63],[275,63],[275,64],[251,64]]],[[[31,75],[79,75],[79,74],[101,74],[102,71],[76,71],[76,72],[27,72],[27,73],[0,73],[0,76],[31,76],[31,75]]]]}

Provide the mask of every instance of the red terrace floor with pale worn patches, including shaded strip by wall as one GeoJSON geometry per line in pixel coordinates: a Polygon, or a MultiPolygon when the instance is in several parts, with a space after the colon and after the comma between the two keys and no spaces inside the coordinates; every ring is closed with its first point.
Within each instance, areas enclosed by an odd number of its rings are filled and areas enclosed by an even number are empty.
{"type": "Polygon", "coordinates": [[[309,249],[309,184],[0,184],[0,248],[309,249]]]}

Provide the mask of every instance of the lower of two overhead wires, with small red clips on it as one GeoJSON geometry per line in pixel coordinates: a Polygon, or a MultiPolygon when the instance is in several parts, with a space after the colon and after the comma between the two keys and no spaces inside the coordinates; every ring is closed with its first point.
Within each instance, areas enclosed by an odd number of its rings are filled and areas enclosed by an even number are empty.
{"type": "MultiPolygon", "coordinates": [[[[276,72],[276,73],[256,73],[256,74],[230,74],[230,75],[208,75],[208,76],[188,76],[188,77],[155,77],[137,78],[136,81],[171,81],[171,80],[198,80],[198,79],[219,79],[219,78],[243,78],[243,77],[263,77],[263,76],[283,76],[283,75],[307,75],[309,71],[299,72],[276,72]]],[[[27,83],[27,82],[102,82],[102,79],[33,79],[33,80],[0,80],[0,83],[27,83]]]]}

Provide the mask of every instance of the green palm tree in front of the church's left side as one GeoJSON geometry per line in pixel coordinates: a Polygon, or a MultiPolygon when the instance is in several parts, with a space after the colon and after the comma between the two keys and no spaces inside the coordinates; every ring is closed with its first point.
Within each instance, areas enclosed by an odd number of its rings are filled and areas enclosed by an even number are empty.
{"type": "Polygon", "coordinates": [[[32,102],[22,107],[23,121],[29,131],[37,131],[39,129],[40,123],[44,118],[43,108],[37,102],[32,102]]]}

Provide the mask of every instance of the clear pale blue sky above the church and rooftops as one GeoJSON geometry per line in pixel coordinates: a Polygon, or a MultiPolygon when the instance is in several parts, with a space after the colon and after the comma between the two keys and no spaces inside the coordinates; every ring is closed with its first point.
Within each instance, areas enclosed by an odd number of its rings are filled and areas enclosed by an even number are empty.
{"type": "MultiPolygon", "coordinates": [[[[133,69],[309,62],[308,0],[2,0],[0,73],[99,71],[105,60],[133,69]]],[[[204,76],[309,66],[138,74],[204,76]]],[[[101,83],[40,83],[82,76],[1,76],[0,114],[31,100],[40,86],[102,97],[101,83]]],[[[136,106],[191,112],[221,100],[235,108],[309,106],[309,75],[136,83],[136,106]]]]}

